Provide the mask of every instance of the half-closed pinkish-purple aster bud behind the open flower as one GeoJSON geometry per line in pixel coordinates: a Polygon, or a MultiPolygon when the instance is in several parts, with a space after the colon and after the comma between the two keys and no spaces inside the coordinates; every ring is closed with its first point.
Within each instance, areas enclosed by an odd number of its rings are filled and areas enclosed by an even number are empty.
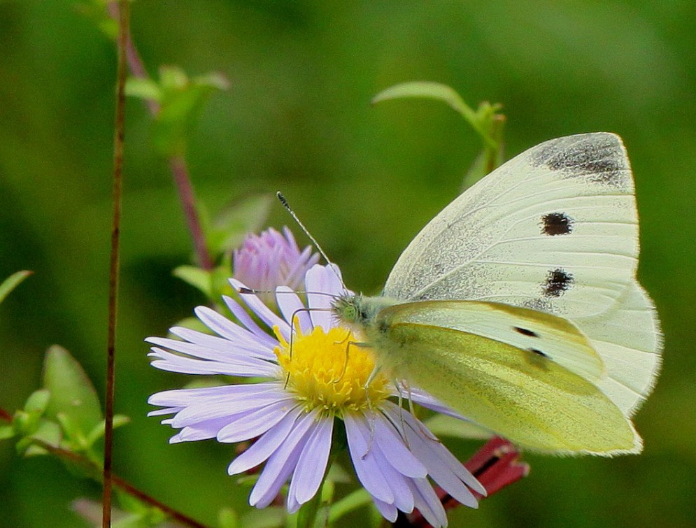
{"type": "MultiPolygon", "coordinates": [[[[273,292],[276,286],[298,290],[304,274],[319,262],[319,254],[310,246],[299,246],[287,227],[280,233],[272,227],[261,234],[249,234],[232,255],[233,275],[246,287],[273,292]]],[[[267,304],[274,302],[273,294],[262,294],[267,304]]]]}

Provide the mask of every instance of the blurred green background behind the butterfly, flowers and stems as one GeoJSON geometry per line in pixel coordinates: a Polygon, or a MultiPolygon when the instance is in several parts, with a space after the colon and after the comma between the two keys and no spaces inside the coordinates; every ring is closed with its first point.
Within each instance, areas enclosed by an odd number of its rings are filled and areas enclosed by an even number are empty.
{"type": "MultiPolygon", "coordinates": [[[[0,2],[0,278],[35,274],[0,306],[0,406],[41,383],[59,343],[104,389],[115,52],[75,1],[0,2]]],[[[432,101],[371,97],[406,80],[447,83],[469,104],[504,104],[506,152],[615,131],[641,215],[640,277],[659,308],[665,363],[637,415],[638,457],[526,455],[532,473],[451,526],[683,527],[696,505],[696,3],[643,1],[139,0],[132,31],[151,73],[220,71],[188,159],[212,213],[283,190],[356,290],[374,291],[414,234],[456,196],[478,152],[461,118],[432,101]]],[[[127,108],[115,472],[206,522],[246,502],[233,448],[167,445],[146,418],[156,371],[143,338],[204,301],[171,276],[190,241],[141,101],[127,108]]],[[[275,206],[269,222],[289,222],[275,206]]],[[[457,445],[468,457],[475,443],[457,445]]],[[[98,497],[59,462],[0,444],[0,526],[80,527],[98,497]]],[[[354,521],[355,522],[355,521],[354,521]]]]}

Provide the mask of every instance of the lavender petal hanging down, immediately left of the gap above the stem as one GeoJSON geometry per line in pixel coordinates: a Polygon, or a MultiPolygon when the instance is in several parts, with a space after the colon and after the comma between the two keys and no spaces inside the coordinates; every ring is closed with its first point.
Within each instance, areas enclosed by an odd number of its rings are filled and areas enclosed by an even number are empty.
{"type": "Polygon", "coordinates": [[[321,418],[302,448],[287,492],[288,498],[294,497],[298,504],[304,504],[314,497],[324,480],[333,430],[333,418],[321,418]]]}

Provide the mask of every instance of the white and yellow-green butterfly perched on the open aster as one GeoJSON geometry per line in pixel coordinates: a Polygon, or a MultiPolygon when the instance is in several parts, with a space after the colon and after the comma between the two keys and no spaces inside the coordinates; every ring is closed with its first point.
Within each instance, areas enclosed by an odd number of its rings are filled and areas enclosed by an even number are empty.
{"type": "Polygon", "coordinates": [[[621,139],[557,138],[444,208],[380,297],[345,295],[333,311],[378,369],[520,446],[637,453],[631,417],[662,348],[638,252],[621,139]]]}

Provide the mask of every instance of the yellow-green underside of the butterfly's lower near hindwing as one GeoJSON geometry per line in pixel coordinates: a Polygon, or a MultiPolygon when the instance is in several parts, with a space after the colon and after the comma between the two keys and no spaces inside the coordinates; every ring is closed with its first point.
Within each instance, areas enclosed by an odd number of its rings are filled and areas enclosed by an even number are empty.
{"type": "Polygon", "coordinates": [[[398,355],[399,377],[427,387],[455,411],[535,450],[606,456],[641,450],[630,420],[582,376],[502,341],[404,322],[411,317],[402,320],[398,306],[378,317],[370,341],[382,355],[398,355]]]}

